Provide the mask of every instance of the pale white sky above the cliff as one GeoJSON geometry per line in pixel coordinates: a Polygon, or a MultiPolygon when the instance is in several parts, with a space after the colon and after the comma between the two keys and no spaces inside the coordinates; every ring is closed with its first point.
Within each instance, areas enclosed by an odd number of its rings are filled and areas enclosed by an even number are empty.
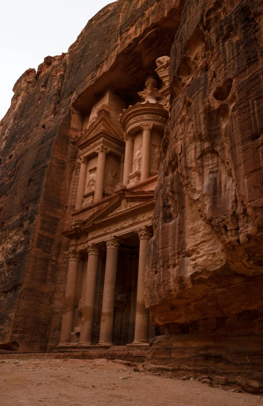
{"type": "Polygon", "coordinates": [[[47,55],[60,55],[88,20],[114,0],[3,0],[0,15],[0,120],[17,79],[47,55]]]}

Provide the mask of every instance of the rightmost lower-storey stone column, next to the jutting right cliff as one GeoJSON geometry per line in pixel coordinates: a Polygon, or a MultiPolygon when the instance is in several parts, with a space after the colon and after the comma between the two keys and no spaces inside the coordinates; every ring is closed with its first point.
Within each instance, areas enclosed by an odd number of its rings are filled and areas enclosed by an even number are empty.
{"type": "Polygon", "coordinates": [[[149,342],[149,310],[145,307],[144,282],[146,271],[146,259],[149,240],[152,234],[148,227],[142,227],[138,231],[140,239],[138,284],[136,299],[135,335],[133,344],[147,344],[149,342]]]}

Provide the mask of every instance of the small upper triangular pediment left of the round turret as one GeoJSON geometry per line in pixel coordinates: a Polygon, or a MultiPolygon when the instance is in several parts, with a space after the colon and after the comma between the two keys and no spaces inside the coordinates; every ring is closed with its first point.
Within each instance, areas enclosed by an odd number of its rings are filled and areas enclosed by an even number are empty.
{"type": "Polygon", "coordinates": [[[95,120],[89,125],[87,130],[78,140],[76,146],[81,148],[84,146],[90,139],[95,136],[107,136],[116,137],[124,141],[123,132],[121,127],[117,125],[110,119],[108,112],[105,110],[100,111],[99,115],[95,120]]]}

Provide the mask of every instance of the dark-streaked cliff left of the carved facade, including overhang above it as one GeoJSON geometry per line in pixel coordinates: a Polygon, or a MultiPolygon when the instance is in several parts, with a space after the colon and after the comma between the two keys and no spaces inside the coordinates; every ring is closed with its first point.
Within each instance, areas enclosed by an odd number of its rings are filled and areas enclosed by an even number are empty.
{"type": "Polygon", "coordinates": [[[77,148],[71,143],[81,131],[70,106],[88,110],[106,86],[138,91],[134,84],[143,85],[149,69],[156,68],[163,43],[171,46],[182,4],[118,0],[88,22],[67,54],[47,56],[37,73],[29,69],[15,84],[0,123],[3,348],[46,348],[52,312],[58,340],[67,272],[59,257],[67,250],[61,232],[74,186],[77,148]],[[53,306],[55,294],[60,303],[53,306]]]}

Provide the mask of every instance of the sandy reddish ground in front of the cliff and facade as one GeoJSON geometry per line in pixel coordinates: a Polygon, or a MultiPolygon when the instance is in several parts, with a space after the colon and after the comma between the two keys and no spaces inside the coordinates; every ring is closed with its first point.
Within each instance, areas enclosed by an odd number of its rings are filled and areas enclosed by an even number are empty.
{"type": "Polygon", "coordinates": [[[231,389],[135,372],[107,360],[0,361],[1,406],[263,406],[262,396],[231,389]]]}

